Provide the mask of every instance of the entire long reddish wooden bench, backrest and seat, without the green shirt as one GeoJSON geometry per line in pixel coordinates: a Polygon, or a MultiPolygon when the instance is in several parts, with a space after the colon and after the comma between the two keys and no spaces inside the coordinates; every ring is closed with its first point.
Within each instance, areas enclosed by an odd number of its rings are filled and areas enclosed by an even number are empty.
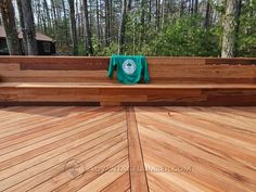
{"type": "Polygon", "coordinates": [[[256,59],[148,57],[149,85],[120,85],[110,57],[0,56],[1,105],[256,105],[256,59]]]}

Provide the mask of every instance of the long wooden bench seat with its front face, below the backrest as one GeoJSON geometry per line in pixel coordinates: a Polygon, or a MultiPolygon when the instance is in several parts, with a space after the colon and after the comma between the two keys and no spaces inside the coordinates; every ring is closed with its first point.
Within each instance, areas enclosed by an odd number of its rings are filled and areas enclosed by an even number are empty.
{"type": "Polygon", "coordinates": [[[255,84],[1,82],[0,103],[256,105],[255,84]]]}

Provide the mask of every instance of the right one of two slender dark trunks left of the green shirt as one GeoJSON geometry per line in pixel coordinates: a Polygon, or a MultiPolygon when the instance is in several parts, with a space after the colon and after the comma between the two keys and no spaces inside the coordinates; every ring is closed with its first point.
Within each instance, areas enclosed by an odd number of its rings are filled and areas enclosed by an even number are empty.
{"type": "Polygon", "coordinates": [[[86,46],[87,46],[87,53],[89,55],[92,55],[93,54],[93,49],[92,49],[92,41],[91,41],[91,29],[90,29],[89,17],[88,17],[87,0],[84,0],[84,15],[85,15],[85,22],[86,22],[86,46]]]}

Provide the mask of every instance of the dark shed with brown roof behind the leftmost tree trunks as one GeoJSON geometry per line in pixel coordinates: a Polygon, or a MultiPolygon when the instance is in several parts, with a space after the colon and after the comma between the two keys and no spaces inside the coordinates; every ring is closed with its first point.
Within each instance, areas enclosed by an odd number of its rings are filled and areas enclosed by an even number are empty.
{"type": "MultiPolygon", "coordinates": [[[[18,31],[18,38],[20,38],[20,44],[24,52],[22,39],[23,39],[23,34],[18,31]]],[[[55,54],[56,49],[55,49],[55,43],[52,38],[37,31],[36,33],[36,39],[37,39],[37,47],[38,47],[38,52],[39,55],[52,55],[55,54]]],[[[0,26],[0,55],[9,55],[9,50],[7,46],[7,35],[3,26],[0,26]]]]}

